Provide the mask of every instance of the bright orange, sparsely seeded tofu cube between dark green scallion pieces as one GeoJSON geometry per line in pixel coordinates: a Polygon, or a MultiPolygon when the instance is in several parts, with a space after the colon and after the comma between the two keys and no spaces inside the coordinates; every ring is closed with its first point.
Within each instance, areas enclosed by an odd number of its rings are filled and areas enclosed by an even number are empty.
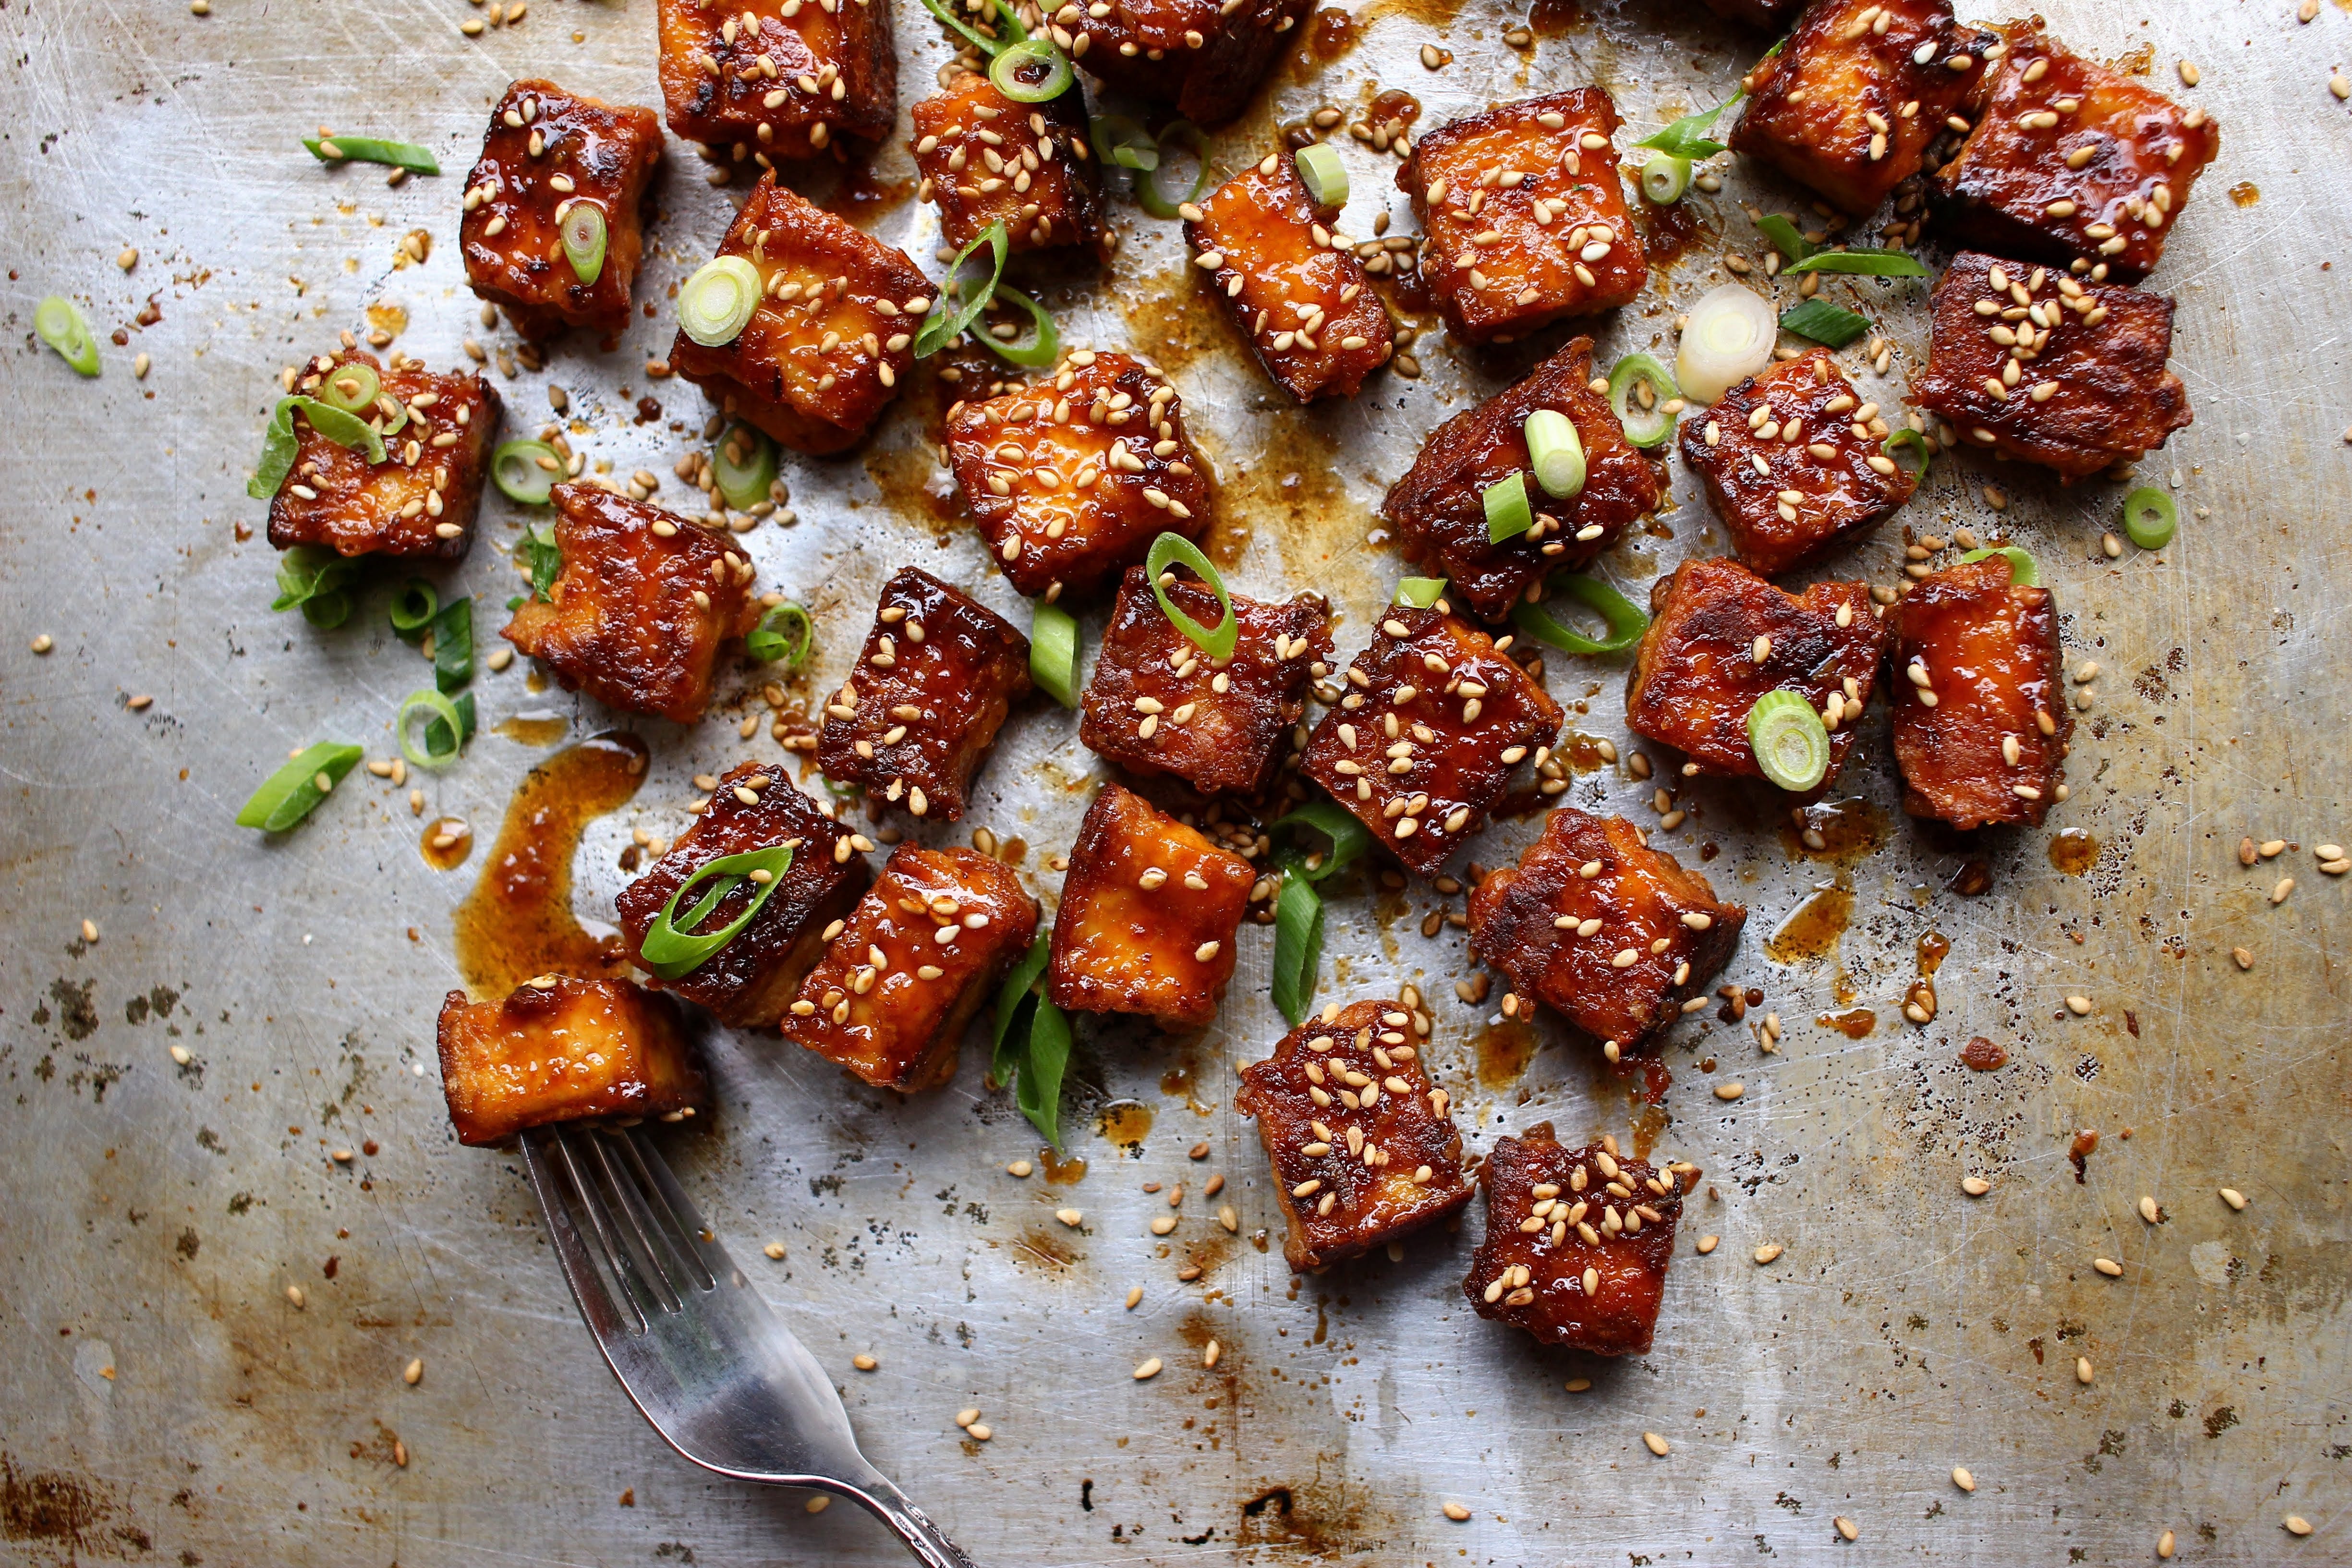
{"type": "Polygon", "coordinates": [[[1070,849],[1047,994],[1058,1009],[1141,1013],[1164,1030],[1209,1023],[1256,879],[1242,856],[1105,783],[1070,849]]]}

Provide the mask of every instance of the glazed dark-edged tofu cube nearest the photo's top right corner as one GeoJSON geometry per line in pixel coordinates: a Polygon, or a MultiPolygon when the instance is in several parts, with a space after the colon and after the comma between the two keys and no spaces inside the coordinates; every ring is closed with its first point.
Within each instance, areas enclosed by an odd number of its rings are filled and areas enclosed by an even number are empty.
{"type": "Polygon", "coordinates": [[[2201,108],[2072,54],[2039,19],[2004,28],[1976,129],[1936,172],[1938,219],[2004,256],[2077,263],[2096,280],[2138,282],[2190,186],[2220,153],[2201,108]]]}

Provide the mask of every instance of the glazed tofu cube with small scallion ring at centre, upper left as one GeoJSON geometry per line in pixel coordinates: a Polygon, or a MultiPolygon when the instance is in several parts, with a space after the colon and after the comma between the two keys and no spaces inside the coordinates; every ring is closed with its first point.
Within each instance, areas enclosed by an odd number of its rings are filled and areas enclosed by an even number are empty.
{"type": "Polygon", "coordinates": [[[489,110],[482,158],[466,176],[466,282],[527,339],[553,339],[564,327],[619,334],[644,256],[659,162],[654,110],[555,82],[510,85],[489,110]],[[604,261],[593,282],[581,282],[557,228],[579,202],[604,214],[604,261]]]}

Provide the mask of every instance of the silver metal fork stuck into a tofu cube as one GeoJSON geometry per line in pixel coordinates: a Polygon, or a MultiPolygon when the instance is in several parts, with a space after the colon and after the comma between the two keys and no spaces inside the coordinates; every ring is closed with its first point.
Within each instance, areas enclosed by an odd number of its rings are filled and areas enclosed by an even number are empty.
{"type": "Polygon", "coordinates": [[[743,1279],[642,1131],[534,1128],[522,1164],[604,1363],[670,1448],[849,1497],[929,1568],[974,1568],[866,1462],[816,1356],[743,1279]]]}

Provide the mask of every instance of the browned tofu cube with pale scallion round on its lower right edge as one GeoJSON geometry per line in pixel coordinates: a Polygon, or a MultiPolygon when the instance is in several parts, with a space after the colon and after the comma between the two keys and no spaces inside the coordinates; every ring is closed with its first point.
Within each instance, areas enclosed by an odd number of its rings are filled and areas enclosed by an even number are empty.
{"type": "Polygon", "coordinates": [[[1738,562],[1682,562],[1649,595],[1651,623],[1625,677],[1625,726],[1679,748],[1703,773],[1762,778],[1748,710],[1795,691],[1830,729],[1828,785],[1853,750],[1886,625],[1870,583],[1785,595],[1738,562]]]}

